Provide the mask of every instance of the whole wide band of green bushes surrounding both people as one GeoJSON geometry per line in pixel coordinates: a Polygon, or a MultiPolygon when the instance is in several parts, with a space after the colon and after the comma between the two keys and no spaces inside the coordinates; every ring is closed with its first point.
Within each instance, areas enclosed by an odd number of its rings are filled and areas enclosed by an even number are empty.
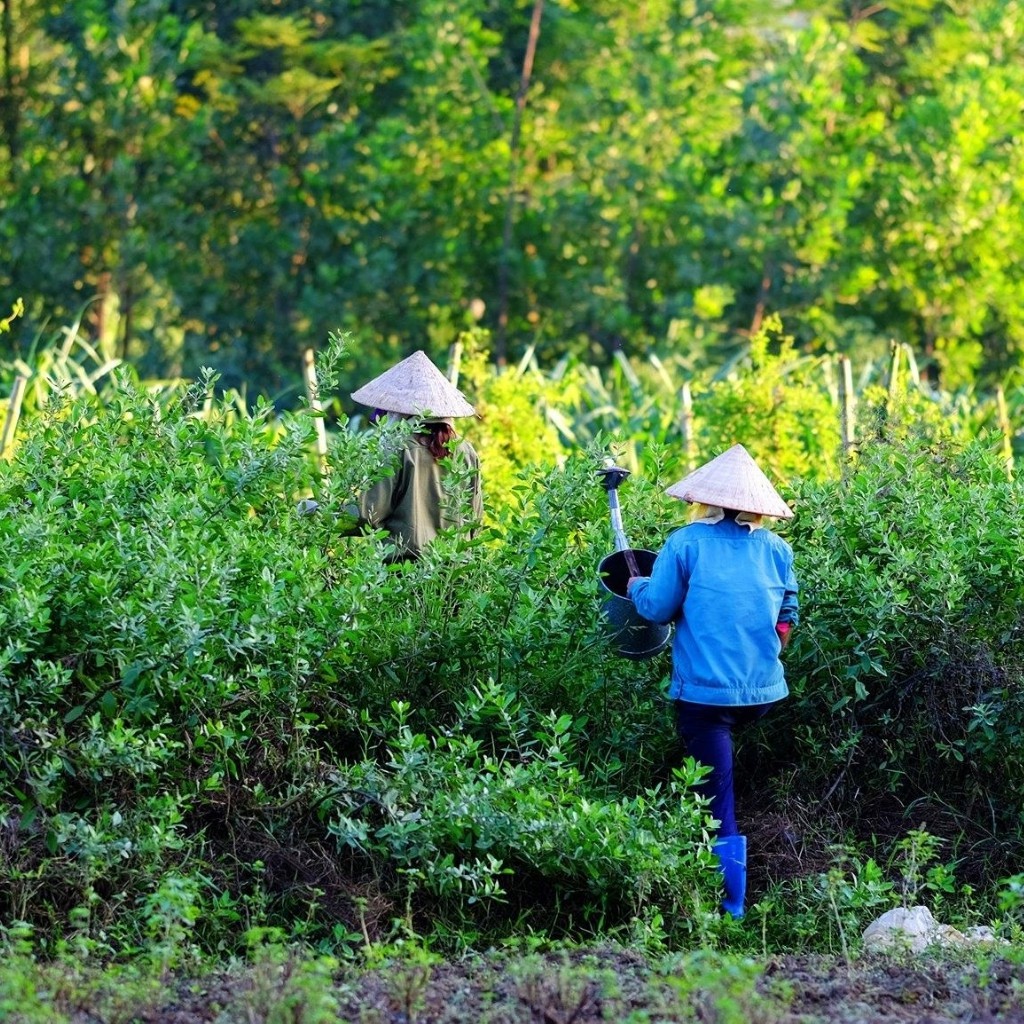
{"type": "MultiPolygon", "coordinates": [[[[670,655],[610,654],[597,580],[604,459],[632,463],[634,546],[685,515],[663,494],[682,367],[490,373],[463,340],[487,514],[414,563],[348,511],[408,424],[339,418],[322,472],[310,412],[250,410],[212,372],[153,393],[123,369],[24,418],[0,463],[0,907],[33,948],[175,968],[259,934],[345,955],[730,938],[698,770],[673,771],[670,655]]],[[[767,321],[694,409],[700,450],[749,439],[798,513],[780,528],[802,625],[765,787],[785,766],[853,824],[865,792],[994,820],[994,878],[1024,784],[1021,484],[971,416],[892,372],[841,461],[827,366],[767,321]]],[[[938,851],[923,826],[752,913],[783,946],[849,951],[896,885],[962,918],[990,902],[959,881],[961,846],[938,851]]]]}

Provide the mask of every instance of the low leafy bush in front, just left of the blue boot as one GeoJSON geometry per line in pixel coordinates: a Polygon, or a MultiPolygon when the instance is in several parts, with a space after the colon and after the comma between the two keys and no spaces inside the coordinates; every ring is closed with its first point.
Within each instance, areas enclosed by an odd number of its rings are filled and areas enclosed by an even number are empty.
{"type": "Polygon", "coordinates": [[[396,872],[410,902],[431,897],[435,930],[470,942],[496,902],[520,908],[517,927],[553,933],[654,914],[677,937],[709,927],[706,812],[684,796],[703,774],[692,762],[664,792],[602,798],[577,766],[568,716],[530,734],[517,724],[522,707],[494,686],[433,739],[409,728],[408,713],[395,705],[394,723],[382,723],[386,753],[339,768],[319,806],[343,851],[396,872]],[[506,727],[498,753],[494,732],[481,738],[496,719],[506,727]],[[531,898],[538,886],[550,902],[531,898]]]}

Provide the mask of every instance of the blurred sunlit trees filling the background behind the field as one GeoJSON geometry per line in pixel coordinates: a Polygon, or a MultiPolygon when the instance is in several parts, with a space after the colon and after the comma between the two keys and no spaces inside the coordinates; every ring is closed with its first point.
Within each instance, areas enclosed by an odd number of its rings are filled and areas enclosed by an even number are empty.
{"type": "Polygon", "coordinates": [[[1019,361],[1017,0],[550,3],[528,67],[495,0],[4,11],[17,347],[85,300],[141,377],[289,406],[339,325],[348,384],[470,326],[710,373],[772,312],[950,389],[1019,361]]]}

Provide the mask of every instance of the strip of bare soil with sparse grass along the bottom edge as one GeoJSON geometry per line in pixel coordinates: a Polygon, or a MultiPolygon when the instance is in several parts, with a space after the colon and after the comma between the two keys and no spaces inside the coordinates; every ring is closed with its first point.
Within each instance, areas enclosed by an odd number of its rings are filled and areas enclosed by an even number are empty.
{"type": "Polygon", "coordinates": [[[268,945],[244,962],[175,973],[155,962],[44,964],[22,951],[0,964],[0,993],[7,1024],[785,1024],[808,1015],[852,1022],[865,1006],[892,1021],[919,1020],[926,1010],[935,1020],[999,1019],[1024,994],[1024,947],[848,961],[709,949],[645,954],[606,943],[445,962],[410,944],[355,964],[268,945]]]}

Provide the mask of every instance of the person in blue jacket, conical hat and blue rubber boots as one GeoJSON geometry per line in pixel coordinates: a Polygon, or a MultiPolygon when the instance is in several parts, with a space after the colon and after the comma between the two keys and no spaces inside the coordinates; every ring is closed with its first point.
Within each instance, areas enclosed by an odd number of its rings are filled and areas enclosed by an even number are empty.
{"type": "Polygon", "coordinates": [[[627,593],[644,618],[676,624],[669,696],[687,753],[711,768],[703,788],[720,822],[722,907],[741,918],[746,837],[736,825],[732,733],[788,693],[779,655],[798,622],[793,549],[763,519],[793,512],[742,444],[666,493],[695,504],[696,517],[670,535],[650,577],[631,579],[627,593]]]}

